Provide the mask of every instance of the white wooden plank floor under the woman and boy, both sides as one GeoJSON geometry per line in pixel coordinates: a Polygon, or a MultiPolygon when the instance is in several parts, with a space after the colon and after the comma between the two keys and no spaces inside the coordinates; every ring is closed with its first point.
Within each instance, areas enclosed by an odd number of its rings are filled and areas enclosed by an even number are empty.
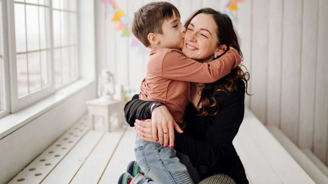
{"type": "MultiPolygon", "coordinates": [[[[252,184],[314,184],[297,162],[246,109],[234,145],[252,184]]],[[[134,128],[105,132],[87,116],[34,159],[9,184],[115,184],[134,157],[134,128]]]]}

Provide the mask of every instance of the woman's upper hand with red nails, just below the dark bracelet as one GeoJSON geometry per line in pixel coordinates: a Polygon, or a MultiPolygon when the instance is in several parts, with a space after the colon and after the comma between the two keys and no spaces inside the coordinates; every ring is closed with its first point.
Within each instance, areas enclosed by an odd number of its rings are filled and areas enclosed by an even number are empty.
{"type": "Polygon", "coordinates": [[[174,147],[174,129],[179,133],[183,132],[179,125],[174,121],[166,106],[160,106],[153,110],[152,126],[154,139],[159,141],[164,147],[167,147],[167,145],[170,144],[171,149],[174,147]],[[164,132],[167,133],[165,134],[164,132]]]}

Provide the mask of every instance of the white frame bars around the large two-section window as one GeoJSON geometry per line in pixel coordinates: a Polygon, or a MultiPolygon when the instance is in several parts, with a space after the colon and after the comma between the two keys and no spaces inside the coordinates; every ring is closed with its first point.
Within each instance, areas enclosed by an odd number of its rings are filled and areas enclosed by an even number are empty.
{"type": "MultiPolygon", "coordinates": [[[[6,1],[6,0],[4,0],[6,1]]],[[[78,1],[77,1],[78,2],[78,1]]],[[[8,15],[8,48],[9,48],[9,60],[10,60],[10,112],[14,113],[18,110],[21,110],[35,102],[38,102],[42,99],[44,99],[47,96],[50,96],[57,90],[68,86],[69,84],[72,84],[74,81],[78,80],[80,78],[79,76],[79,70],[78,71],[78,77],[75,80],[70,81],[69,83],[60,86],[59,88],[55,88],[55,73],[54,73],[54,54],[53,54],[53,27],[52,27],[52,0],[49,0],[49,16],[47,18],[47,30],[49,30],[49,34],[47,35],[47,48],[50,49],[50,56],[47,58],[47,65],[50,66],[50,69],[48,68],[50,80],[49,85],[45,87],[44,89],[29,93],[27,95],[23,95],[21,97],[18,97],[18,85],[17,85],[17,66],[16,66],[16,41],[15,41],[15,16],[14,16],[14,0],[7,0],[7,15],[8,15]]],[[[16,2],[17,3],[17,2],[16,2]]],[[[23,3],[23,4],[29,4],[29,3],[23,3]]],[[[32,4],[33,5],[33,4],[32,4]]],[[[77,19],[78,19],[78,4],[76,7],[77,11],[77,19]]],[[[77,20],[78,21],[78,20],[77,20]]],[[[78,23],[77,27],[78,27],[78,23]]],[[[77,41],[79,42],[79,41],[77,41]]],[[[77,43],[78,44],[78,43],[77,43]]],[[[78,47],[79,48],[79,47],[78,47]]],[[[79,50],[78,50],[79,52],[79,50]]],[[[78,56],[76,58],[79,59],[78,56]]],[[[77,69],[79,68],[79,62],[77,62],[77,69]]]]}

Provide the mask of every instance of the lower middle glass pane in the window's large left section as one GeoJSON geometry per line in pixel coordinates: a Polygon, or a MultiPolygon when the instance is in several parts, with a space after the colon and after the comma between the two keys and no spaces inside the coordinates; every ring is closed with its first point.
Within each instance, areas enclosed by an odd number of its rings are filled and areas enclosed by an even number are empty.
{"type": "Polygon", "coordinates": [[[28,54],[30,92],[41,88],[40,52],[28,54]]]}

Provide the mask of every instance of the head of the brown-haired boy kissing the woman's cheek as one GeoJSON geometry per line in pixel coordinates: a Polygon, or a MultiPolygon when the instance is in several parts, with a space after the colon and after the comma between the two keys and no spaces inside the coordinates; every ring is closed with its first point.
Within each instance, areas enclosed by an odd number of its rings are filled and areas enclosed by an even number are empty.
{"type": "Polygon", "coordinates": [[[146,47],[183,47],[185,27],[180,23],[178,9],[168,2],[153,2],[134,13],[134,36],[146,47]]]}

